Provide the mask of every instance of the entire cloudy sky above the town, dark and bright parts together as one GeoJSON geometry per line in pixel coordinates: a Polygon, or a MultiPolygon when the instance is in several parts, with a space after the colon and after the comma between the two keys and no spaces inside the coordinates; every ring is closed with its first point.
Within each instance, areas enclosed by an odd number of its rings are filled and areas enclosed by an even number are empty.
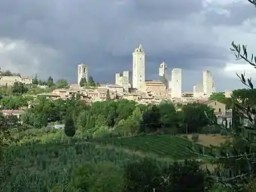
{"type": "Polygon", "coordinates": [[[158,78],[161,62],[183,69],[182,90],[191,91],[209,69],[216,89],[243,87],[236,77],[256,69],[230,52],[231,42],[256,54],[256,8],[246,0],[1,0],[0,66],[24,76],[77,80],[88,65],[99,83],[132,69],[139,44],[146,78],[158,78]]]}

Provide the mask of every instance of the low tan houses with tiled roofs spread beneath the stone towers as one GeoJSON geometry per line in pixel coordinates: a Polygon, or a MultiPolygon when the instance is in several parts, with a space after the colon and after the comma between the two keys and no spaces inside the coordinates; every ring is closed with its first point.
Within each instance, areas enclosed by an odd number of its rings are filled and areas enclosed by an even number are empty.
{"type": "MultiPolygon", "coordinates": [[[[84,102],[90,105],[93,102],[105,101],[107,94],[111,99],[128,99],[136,101],[140,104],[159,104],[163,100],[169,100],[169,93],[166,92],[165,85],[159,81],[148,81],[145,84],[144,91],[130,89],[129,92],[123,91],[123,87],[117,84],[102,84],[100,87],[83,88],[77,84],[71,85],[69,89],[56,89],[51,93],[41,93],[38,96],[45,96],[47,99],[69,99],[72,96],[80,97],[84,102]]],[[[231,122],[231,113],[227,111],[226,105],[218,101],[198,100],[194,97],[187,96],[189,93],[183,93],[181,99],[173,99],[174,103],[186,104],[189,102],[201,102],[212,107],[215,110],[216,117],[219,123],[228,121],[231,122]]],[[[22,110],[2,110],[4,115],[13,114],[20,117],[23,114],[22,110]]]]}

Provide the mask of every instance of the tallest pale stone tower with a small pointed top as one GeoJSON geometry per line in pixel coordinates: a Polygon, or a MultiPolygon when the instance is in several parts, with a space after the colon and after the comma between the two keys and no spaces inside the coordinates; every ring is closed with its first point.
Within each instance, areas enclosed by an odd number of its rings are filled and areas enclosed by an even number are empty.
{"type": "Polygon", "coordinates": [[[133,52],[133,88],[142,90],[145,84],[145,51],[142,44],[133,52]]]}

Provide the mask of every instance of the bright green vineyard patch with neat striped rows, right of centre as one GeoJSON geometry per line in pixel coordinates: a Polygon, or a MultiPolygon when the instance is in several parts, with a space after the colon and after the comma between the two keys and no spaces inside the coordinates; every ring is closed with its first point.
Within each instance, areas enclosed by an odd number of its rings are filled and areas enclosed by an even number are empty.
{"type": "Polygon", "coordinates": [[[193,145],[193,142],[178,136],[160,135],[123,137],[104,139],[99,140],[98,142],[115,145],[120,148],[127,148],[130,149],[130,151],[142,151],[145,153],[157,154],[162,157],[170,157],[174,160],[197,157],[187,149],[187,147],[193,145]]]}

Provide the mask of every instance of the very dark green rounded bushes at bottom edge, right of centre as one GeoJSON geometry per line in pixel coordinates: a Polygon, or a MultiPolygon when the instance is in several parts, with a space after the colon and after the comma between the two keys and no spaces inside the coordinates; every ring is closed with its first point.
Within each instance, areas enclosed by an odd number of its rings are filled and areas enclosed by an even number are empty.
{"type": "Polygon", "coordinates": [[[161,166],[151,159],[126,166],[125,191],[205,191],[206,173],[196,161],[161,166]]]}

